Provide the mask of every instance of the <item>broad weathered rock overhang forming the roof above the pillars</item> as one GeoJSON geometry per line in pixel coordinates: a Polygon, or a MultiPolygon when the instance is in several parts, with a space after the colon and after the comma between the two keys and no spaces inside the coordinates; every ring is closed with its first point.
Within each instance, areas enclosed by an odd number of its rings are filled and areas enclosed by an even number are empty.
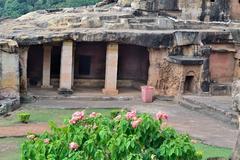
{"type": "Polygon", "coordinates": [[[236,36],[239,24],[135,16],[134,12],[132,8],[116,6],[35,11],[15,20],[0,22],[0,37],[15,40],[19,45],[74,40],[110,41],[148,48],[240,42],[236,36]],[[235,35],[232,35],[233,32],[235,35]]]}

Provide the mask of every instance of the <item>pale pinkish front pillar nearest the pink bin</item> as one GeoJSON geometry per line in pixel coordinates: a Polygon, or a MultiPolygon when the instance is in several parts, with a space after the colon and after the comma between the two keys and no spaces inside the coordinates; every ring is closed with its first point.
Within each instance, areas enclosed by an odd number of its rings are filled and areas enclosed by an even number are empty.
{"type": "Polygon", "coordinates": [[[118,44],[109,43],[106,53],[105,95],[117,95],[118,44]]]}

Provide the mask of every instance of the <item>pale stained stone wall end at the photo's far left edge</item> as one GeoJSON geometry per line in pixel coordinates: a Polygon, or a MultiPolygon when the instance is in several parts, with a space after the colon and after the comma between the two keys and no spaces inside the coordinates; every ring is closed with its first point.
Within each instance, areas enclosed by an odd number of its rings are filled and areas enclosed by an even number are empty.
{"type": "Polygon", "coordinates": [[[16,47],[13,41],[0,45],[0,98],[19,99],[19,55],[16,47]]]}

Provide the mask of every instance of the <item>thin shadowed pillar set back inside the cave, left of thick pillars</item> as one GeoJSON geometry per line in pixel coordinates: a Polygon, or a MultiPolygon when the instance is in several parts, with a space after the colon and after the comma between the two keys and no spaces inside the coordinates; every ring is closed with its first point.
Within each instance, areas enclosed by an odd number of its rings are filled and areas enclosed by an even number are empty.
{"type": "Polygon", "coordinates": [[[51,81],[51,46],[43,46],[43,75],[42,75],[42,88],[52,88],[51,81]]]}

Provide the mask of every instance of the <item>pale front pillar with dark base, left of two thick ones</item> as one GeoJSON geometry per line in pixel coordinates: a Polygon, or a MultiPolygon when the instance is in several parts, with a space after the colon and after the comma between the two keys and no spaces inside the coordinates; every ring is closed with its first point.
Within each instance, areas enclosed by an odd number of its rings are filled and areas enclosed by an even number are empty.
{"type": "Polygon", "coordinates": [[[73,41],[62,45],[59,94],[72,94],[73,81],[73,41]]]}

